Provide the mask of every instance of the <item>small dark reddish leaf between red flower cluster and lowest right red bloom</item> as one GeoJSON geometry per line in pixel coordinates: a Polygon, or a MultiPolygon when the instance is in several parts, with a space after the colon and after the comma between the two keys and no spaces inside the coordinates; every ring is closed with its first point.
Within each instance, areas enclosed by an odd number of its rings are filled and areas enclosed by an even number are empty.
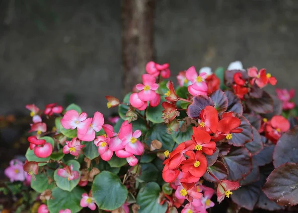
{"type": "MultiPolygon", "coordinates": [[[[227,178],[227,168],[221,161],[216,161],[212,166],[208,167],[208,171],[210,171],[219,180],[227,178]]],[[[206,172],[203,177],[210,182],[217,182],[210,174],[208,174],[208,172],[206,172]]]]}

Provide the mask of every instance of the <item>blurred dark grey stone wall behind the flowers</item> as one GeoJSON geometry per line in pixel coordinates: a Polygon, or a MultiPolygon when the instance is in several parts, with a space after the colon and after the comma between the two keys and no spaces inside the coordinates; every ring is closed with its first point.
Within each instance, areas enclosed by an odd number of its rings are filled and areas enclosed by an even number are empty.
{"type": "MultiPolygon", "coordinates": [[[[113,112],[104,96],[121,98],[120,0],[15,0],[8,19],[0,2],[0,114],[72,100],[113,112]]],[[[297,0],[156,0],[155,13],[156,61],[174,74],[240,60],[298,89],[297,0]]]]}

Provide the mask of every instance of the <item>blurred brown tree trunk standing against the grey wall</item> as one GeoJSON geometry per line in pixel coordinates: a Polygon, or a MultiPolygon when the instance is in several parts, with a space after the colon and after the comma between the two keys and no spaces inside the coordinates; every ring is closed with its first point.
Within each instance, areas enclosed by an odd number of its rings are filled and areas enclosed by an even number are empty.
{"type": "Polygon", "coordinates": [[[147,62],[153,59],[154,0],[122,0],[123,94],[141,82],[147,62]]]}

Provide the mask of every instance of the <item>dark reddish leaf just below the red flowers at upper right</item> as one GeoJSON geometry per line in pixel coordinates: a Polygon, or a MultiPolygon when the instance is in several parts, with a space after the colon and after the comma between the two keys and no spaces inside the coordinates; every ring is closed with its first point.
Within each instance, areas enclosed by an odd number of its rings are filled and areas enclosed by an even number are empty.
{"type": "Polygon", "coordinates": [[[261,98],[248,98],[246,99],[247,107],[254,112],[266,114],[273,112],[273,99],[265,91],[263,91],[261,98]]]}

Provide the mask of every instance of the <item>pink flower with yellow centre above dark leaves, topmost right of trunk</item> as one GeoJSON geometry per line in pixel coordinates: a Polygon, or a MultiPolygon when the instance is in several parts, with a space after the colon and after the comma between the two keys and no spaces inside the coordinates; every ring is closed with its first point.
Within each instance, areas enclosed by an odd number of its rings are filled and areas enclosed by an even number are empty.
{"type": "Polygon", "coordinates": [[[185,72],[185,76],[186,79],[192,83],[188,86],[188,91],[190,94],[207,95],[208,86],[205,82],[205,79],[207,78],[206,72],[201,72],[200,75],[198,75],[195,67],[192,66],[185,72]]]}

